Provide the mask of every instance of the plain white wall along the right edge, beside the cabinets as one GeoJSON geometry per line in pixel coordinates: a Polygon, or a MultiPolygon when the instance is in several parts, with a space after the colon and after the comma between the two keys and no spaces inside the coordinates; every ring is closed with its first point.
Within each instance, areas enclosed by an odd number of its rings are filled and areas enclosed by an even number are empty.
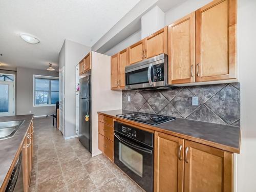
{"type": "Polygon", "coordinates": [[[241,154],[238,155],[238,192],[254,192],[256,172],[256,1],[238,2],[238,62],[241,82],[241,154]]]}

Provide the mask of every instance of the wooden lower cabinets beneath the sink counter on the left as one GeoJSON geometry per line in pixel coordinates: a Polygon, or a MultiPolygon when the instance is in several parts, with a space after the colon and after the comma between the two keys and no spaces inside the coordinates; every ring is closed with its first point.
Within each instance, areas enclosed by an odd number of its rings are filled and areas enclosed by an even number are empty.
{"type": "Polygon", "coordinates": [[[31,178],[31,172],[32,172],[32,165],[33,165],[33,133],[34,133],[34,127],[33,122],[31,123],[27,136],[24,139],[23,142],[23,148],[22,148],[22,165],[23,165],[23,185],[24,185],[24,191],[29,191],[29,185],[30,185],[30,178],[31,178]]]}

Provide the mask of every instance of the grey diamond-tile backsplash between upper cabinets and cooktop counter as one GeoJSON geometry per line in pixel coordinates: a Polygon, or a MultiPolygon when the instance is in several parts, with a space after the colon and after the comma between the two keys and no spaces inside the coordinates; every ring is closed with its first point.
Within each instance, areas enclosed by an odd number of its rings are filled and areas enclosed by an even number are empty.
{"type": "Polygon", "coordinates": [[[122,109],[240,126],[240,83],[122,91],[122,109]],[[194,96],[198,106],[192,105],[194,96]]]}

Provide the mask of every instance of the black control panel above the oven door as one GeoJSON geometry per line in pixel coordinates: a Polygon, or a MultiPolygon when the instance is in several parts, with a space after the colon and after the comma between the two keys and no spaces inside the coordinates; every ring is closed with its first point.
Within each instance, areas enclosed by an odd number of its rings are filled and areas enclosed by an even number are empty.
{"type": "Polygon", "coordinates": [[[131,138],[133,140],[139,141],[148,146],[153,147],[154,145],[154,133],[138,129],[137,127],[133,127],[133,126],[115,121],[114,131],[117,134],[121,134],[123,136],[126,136],[127,138],[131,138]]]}

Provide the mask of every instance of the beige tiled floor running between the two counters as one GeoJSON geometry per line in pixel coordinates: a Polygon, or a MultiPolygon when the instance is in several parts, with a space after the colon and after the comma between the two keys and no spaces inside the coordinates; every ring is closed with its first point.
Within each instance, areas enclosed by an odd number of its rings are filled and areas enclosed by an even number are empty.
{"type": "Polygon", "coordinates": [[[65,140],[52,117],[34,119],[30,191],[143,191],[103,155],[91,157],[77,138],[65,140]]]}

